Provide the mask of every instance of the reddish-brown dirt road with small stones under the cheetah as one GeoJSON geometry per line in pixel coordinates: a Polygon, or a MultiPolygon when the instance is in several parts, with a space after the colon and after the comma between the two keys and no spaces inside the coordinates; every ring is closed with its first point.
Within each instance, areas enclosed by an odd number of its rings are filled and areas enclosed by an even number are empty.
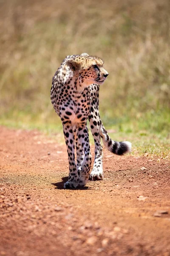
{"type": "Polygon", "coordinates": [[[170,256],[170,161],[104,149],[104,175],[63,189],[57,136],[0,127],[0,256],[170,256]]]}

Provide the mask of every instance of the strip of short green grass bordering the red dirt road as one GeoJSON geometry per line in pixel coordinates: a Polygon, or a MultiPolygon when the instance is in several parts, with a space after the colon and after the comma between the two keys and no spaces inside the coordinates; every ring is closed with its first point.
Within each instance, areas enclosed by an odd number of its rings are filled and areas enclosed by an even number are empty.
{"type": "MultiPolygon", "coordinates": [[[[170,129],[167,125],[169,115],[159,113],[157,115],[147,114],[147,116],[139,116],[138,119],[110,119],[109,122],[105,118],[102,121],[107,128],[109,135],[113,140],[130,141],[133,146],[133,155],[150,155],[158,158],[170,159],[170,129]],[[162,122],[163,120],[163,122],[162,122]]],[[[55,137],[57,134],[57,142],[65,143],[62,134],[62,124],[59,117],[55,119],[45,120],[42,122],[41,116],[34,118],[25,113],[16,113],[16,117],[12,119],[1,118],[0,125],[6,125],[9,128],[21,129],[38,129],[48,136],[55,137]]],[[[88,126],[89,127],[89,126],[88,126]]],[[[92,134],[89,130],[90,142],[94,144],[92,134]]]]}

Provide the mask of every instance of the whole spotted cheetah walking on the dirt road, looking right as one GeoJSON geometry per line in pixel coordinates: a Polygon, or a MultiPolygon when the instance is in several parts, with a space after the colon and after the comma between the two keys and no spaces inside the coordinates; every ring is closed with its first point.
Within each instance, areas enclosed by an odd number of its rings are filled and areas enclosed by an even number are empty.
{"type": "Polygon", "coordinates": [[[103,151],[100,138],[106,148],[122,155],[131,150],[131,143],[111,140],[99,115],[99,85],[103,84],[108,72],[100,58],[68,55],[62,61],[52,79],[51,102],[62,121],[68,152],[69,176],[65,189],[85,186],[88,179],[103,178],[103,151]],[[95,159],[91,170],[91,151],[87,120],[94,137],[95,159]],[[77,161],[75,160],[75,149],[77,161]]]}

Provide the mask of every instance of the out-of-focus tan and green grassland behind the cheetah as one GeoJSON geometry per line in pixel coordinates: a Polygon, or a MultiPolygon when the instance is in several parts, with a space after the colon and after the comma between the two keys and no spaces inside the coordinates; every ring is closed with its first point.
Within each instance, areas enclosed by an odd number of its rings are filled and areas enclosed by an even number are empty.
{"type": "Polygon", "coordinates": [[[170,139],[169,0],[0,0],[0,33],[0,124],[61,129],[52,76],[66,55],[87,52],[109,73],[105,126],[170,139]]]}

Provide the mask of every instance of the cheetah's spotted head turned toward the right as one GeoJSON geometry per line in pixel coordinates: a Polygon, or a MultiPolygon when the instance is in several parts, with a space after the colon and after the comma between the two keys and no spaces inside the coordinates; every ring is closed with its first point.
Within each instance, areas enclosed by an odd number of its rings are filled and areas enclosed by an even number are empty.
{"type": "Polygon", "coordinates": [[[67,65],[85,87],[90,84],[103,84],[108,76],[108,72],[103,67],[103,61],[100,58],[89,56],[87,53],[69,58],[67,65]]]}

